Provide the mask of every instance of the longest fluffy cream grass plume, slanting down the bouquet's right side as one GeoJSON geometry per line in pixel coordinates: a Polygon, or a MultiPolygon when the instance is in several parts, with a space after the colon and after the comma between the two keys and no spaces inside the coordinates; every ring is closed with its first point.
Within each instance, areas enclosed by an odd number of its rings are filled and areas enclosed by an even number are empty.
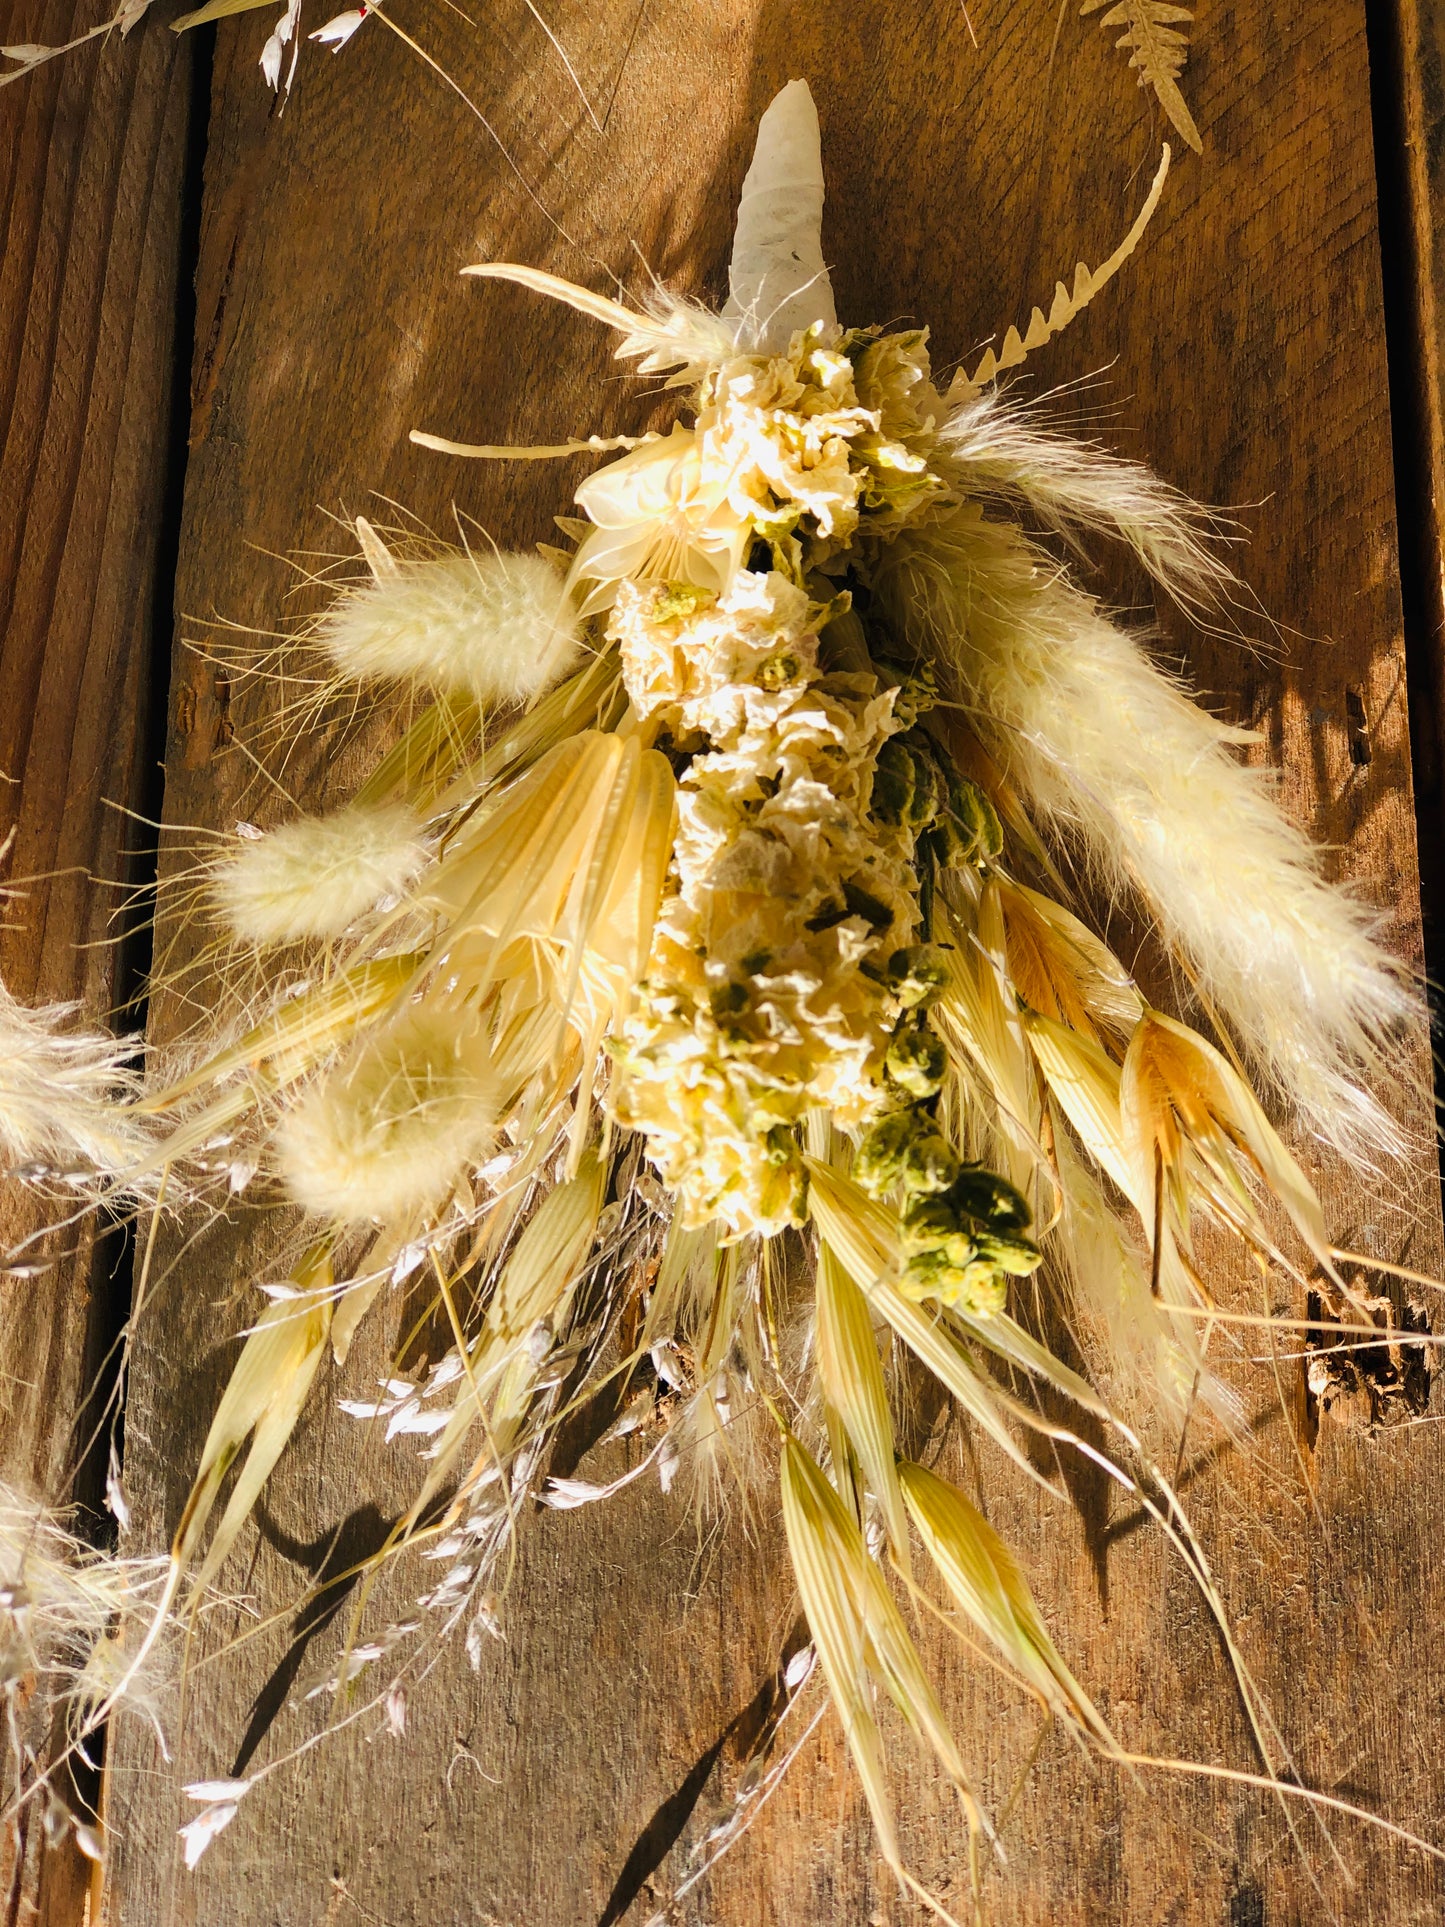
{"type": "Polygon", "coordinates": [[[882,588],[1040,821],[1110,890],[1144,900],[1281,1096],[1347,1152],[1399,1148],[1362,1079],[1414,998],[1268,779],[1231,753],[1248,734],[977,509],[906,534],[882,588]]]}

